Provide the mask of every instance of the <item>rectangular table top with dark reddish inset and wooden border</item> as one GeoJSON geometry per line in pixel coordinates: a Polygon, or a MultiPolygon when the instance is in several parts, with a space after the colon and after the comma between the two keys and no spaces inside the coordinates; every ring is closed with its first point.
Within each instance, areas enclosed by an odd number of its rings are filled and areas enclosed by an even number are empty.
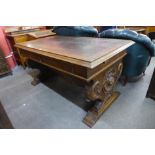
{"type": "Polygon", "coordinates": [[[51,36],[16,47],[70,63],[94,68],[134,44],[131,40],[51,36]]]}

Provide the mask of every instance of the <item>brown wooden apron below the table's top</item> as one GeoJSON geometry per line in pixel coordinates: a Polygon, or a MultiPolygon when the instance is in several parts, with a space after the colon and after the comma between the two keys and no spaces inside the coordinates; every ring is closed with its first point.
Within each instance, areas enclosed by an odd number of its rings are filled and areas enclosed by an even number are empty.
{"type": "Polygon", "coordinates": [[[48,66],[48,67],[54,69],[54,70],[57,70],[64,74],[70,75],[77,79],[83,80],[85,82],[90,82],[95,77],[97,77],[99,74],[104,72],[107,68],[109,68],[110,66],[116,64],[119,61],[122,61],[123,57],[126,55],[126,52],[122,51],[119,54],[115,55],[114,57],[101,63],[97,67],[91,69],[91,68],[87,68],[84,66],[80,66],[80,65],[72,64],[69,62],[62,61],[62,60],[58,60],[55,58],[43,56],[38,53],[32,53],[30,51],[19,49],[19,48],[18,48],[18,51],[19,51],[22,59],[25,59],[26,61],[28,59],[36,61],[40,64],[43,64],[45,66],[48,66]]]}

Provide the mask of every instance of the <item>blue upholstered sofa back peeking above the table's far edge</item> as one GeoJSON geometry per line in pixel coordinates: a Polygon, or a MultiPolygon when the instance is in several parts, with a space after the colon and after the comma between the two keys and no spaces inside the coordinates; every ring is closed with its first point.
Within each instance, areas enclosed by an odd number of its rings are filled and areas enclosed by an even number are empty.
{"type": "Polygon", "coordinates": [[[98,31],[92,26],[54,26],[53,32],[61,36],[97,37],[98,31]]]}

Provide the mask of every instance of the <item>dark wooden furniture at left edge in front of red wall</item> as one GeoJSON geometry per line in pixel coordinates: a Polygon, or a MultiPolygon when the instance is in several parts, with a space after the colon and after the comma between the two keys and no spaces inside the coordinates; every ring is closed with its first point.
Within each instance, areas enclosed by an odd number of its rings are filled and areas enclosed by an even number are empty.
{"type": "Polygon", "coordinates": [[[8,63],[6,62],[2,50],[0,49],[0,76],[4,76],[8,73],[11,73],[11,70],[8,66],[8,63]]]}

